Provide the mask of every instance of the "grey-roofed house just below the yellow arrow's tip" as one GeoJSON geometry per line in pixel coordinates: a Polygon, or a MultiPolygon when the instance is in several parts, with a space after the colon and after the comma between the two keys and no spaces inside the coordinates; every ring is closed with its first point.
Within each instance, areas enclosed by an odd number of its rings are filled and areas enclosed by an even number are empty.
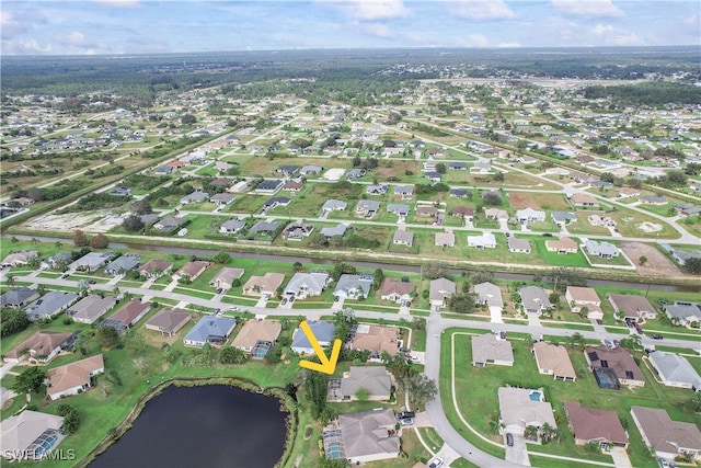
{"type": "MultiPolygon", "coordinates": [[[[392,375],[384,366],[350,366],[343,378],[329,383],[329,401],[357,401],[366,391],[369,401],[387,401],[392,392],[392,375]]],[[[365,397],[365,396],[364,396],[365,397]]]]}

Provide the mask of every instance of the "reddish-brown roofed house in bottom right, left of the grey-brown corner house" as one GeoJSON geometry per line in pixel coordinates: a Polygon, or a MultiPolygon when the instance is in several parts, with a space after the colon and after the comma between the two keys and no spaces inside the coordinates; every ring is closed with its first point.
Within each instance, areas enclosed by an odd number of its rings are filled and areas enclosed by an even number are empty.
{"type": "Polygon", "coordinates": [[[595,443],[628,448],[628,433],[616,411],[584,408],[578,401],[565,401],[564,408],[575,445],[595,443]]]}

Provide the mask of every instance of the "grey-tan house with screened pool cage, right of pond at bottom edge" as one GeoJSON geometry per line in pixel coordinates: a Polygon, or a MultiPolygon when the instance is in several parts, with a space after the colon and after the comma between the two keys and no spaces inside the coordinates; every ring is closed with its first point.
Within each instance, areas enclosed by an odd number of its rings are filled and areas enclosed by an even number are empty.
{"type": "Polygon", "coordinates": [[[390,408],[341,414],[337,423],[324,429],[324,453],[352,465],[397,458],[400,440],[395,424],[397,416],[390,408]]]}

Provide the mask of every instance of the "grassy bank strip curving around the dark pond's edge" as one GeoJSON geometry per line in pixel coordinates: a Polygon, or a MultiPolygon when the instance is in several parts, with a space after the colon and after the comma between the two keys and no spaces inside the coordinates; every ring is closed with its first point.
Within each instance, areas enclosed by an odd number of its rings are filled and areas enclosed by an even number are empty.
{"type": "MultiPolygon", "coordinates": [[[[116,427],[110,427],[105,430],[105,438],[97,444],[90,453],[81,459],[78,464],[76,464],[76,468],[85,468],[92,461],[95,460],[97,456],[103,454],[107,448],[110,448],[114,443],[119,441],[119,438],[126,434],[134,422],[139,418],[141,411],[143,410],[146,403],[148,403],[154,397],[161,395],[161,392],[168,387],[202,387],[208,385],[225,385],[229,387],[235,387],[241,390],[258,392],[261,387],[256,385],[253,380],[235,377],[235,376],[210,376],[210,377],[172,377],[168,380],[160,381],[156,384],[153,387],[149,388],[145,393],[142,393],[129,413],[126,415],[124,421],[122,421],[116,427]]],[[[275,464],[275,468],[283,467],[289,460],[292,449],[295,447],[295,440],[297,438],[299,418],[297,414],[297,410],[295,408],[291,398],[285,393],[281,387],[271,387],[266,388],[263,391],[264,395],[275,397],[278,399],[280,403],[280,412],[287,413],[287,418],[285,418],[286,425],[286,436],[285,436],[285,446],[283,448],[283,456],[275,464]],[[294,409],[294,410],[292,410],[294,409]]]]}

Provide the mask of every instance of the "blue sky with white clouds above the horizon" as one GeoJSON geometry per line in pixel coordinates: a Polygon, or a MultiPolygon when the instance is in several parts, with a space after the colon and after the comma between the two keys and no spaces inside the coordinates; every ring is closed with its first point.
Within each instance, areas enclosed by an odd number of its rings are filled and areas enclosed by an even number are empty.
{"type": "Polygon", "coordinates": [[[698,45],[699,0],[1,0],[2,55],[698,45]]]}

